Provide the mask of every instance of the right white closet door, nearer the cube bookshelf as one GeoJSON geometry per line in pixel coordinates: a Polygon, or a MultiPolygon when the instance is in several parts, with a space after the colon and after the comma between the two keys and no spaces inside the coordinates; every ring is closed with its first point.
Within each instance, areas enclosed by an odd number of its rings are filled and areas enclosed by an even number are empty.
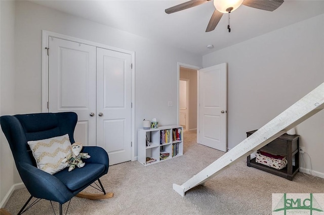
{"type": "Polygon", "coordinates": [[[132,58],[97,48],[97,145],[110,165],[131,160],[132,58]]]}

